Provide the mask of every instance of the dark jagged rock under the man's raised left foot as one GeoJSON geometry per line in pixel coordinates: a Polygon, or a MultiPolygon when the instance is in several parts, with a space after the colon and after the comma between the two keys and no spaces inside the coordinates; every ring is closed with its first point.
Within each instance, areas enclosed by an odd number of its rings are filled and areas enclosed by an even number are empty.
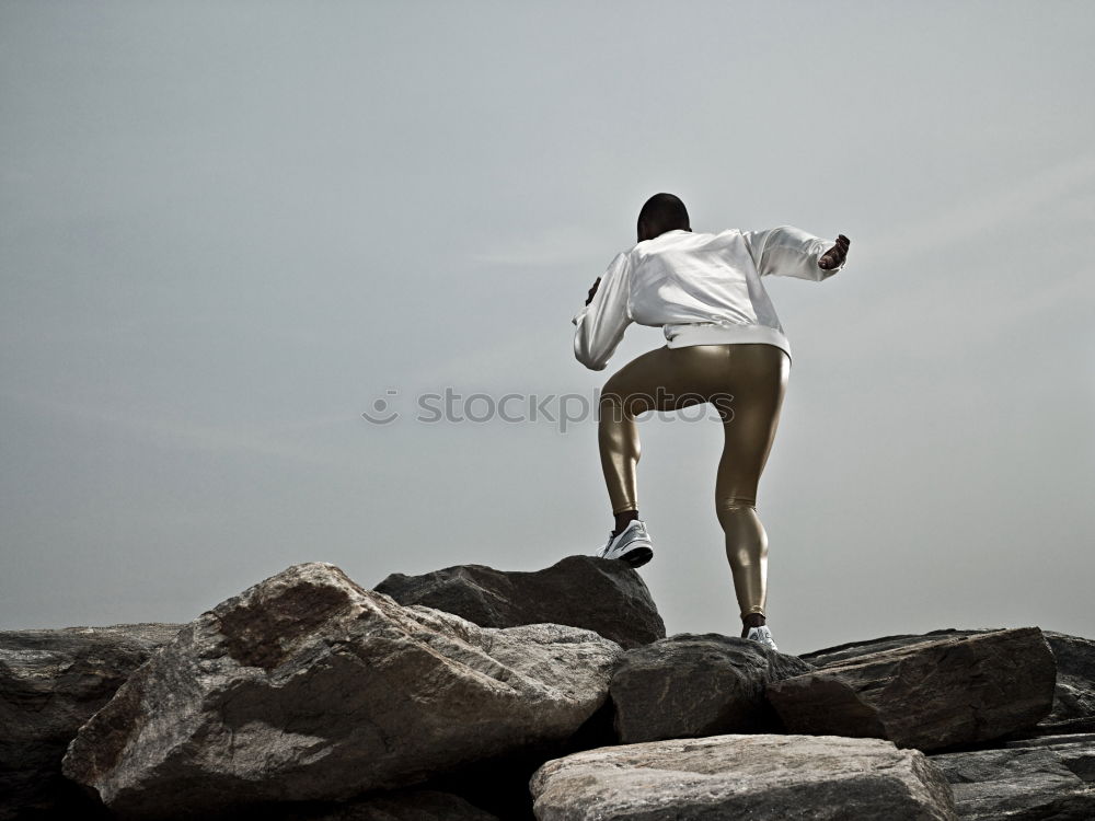
{"type": "Polygon", "coordinates": [[[643,577],[616,559],[567,556],[530,573],[456,565],[422,576],[392,574],[374,589],[400,604],[456,613],[482,627],[568,624],[625,648],[666,635],[643,577]]]}

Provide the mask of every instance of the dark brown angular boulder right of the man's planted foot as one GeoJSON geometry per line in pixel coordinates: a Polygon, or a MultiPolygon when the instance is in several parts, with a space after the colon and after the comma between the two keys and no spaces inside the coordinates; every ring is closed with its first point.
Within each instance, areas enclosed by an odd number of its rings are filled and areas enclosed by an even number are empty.
{"type": "Polygon", "coordinates": [[[768,685],[788,732],[874,737],[941,750],[1048,715],[1056,664],[1037,627],[914,643],[768,685]]]}

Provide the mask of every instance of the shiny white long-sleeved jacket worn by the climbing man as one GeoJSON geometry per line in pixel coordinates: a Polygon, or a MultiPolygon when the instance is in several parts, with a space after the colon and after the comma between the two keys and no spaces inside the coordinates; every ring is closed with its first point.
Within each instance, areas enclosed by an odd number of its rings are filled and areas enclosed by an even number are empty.
{"type": "Polygon", "coordinates": [[[589,304],[570,320],[574,356],[603,370],[635,322],[662,325],[670,348],[766,343],[789,357],[791,343],[761,277],[828,279],[844,264],[826,269],[818,259],[835,244],[792,226],[717,234],[676,229],[644,240],[616,254],[589,304]]]}

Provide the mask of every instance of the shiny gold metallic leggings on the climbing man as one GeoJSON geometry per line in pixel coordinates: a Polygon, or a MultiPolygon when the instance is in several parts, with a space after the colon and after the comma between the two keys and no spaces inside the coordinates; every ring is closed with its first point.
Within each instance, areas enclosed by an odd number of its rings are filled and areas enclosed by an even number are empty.
{"type": "Polygon", "coordinates": [[[741,617],[764,614],[768,534],[757,485],[775,439],[791,359],[774,345],[668,346],[636,357],[601,390],[598,444],[612,512],[638,510],[635,416],[711,403],[726,433],[715,478],[715,513],[726,534],[741,617]]]}

